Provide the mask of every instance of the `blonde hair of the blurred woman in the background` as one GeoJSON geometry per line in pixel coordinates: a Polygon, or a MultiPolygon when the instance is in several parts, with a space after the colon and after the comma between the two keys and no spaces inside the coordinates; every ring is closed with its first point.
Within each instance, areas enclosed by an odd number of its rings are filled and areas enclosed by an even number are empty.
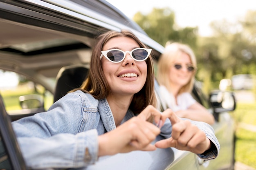
{"type": "Polygon", "coordinates": [[[191,93],[193,89],[193,84],[195,81],[195,73],[196,73],[196,58],[193,50],[186,44],[180,44],[177,42],[166,45],[164,53],[160,56],[157,65],[157,81],[160,85],[165,86],[168,91],[171,91],[171,83],[169,80],[170,67],[173,66],[174,61],[180,57],[182,53],[186,53],[189,55],[190,60],[192,62],[192,66],[195,68],[192,72],[192,76],[190,81],[184,85],[178,94],[189,92],[191,93]]]}

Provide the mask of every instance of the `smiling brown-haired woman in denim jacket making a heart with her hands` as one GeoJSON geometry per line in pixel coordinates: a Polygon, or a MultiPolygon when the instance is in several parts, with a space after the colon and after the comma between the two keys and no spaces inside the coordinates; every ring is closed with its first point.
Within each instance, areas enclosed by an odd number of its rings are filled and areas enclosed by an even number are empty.
{"type": "Polygon", "coordinates": [[[129,31],[99,36],[83,85],[47,112],[13,122],[28,168],[85,167],[104,155],[157,147],[215,158],[220,146],[208,124],[154,107],[150,52],[129,31]],[[160,133],[167,139],[150,144],[160,133]]]}

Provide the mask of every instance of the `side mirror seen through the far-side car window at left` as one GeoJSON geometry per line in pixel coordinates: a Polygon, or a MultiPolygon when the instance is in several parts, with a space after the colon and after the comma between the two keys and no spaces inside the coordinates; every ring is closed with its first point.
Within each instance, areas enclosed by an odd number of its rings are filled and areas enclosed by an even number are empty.
{"type": "Polygon", "coordinates": [[[23,95],[19,97],[22,109],[42,109],[44,110],[44,99],[40,95],[23,95]]]}

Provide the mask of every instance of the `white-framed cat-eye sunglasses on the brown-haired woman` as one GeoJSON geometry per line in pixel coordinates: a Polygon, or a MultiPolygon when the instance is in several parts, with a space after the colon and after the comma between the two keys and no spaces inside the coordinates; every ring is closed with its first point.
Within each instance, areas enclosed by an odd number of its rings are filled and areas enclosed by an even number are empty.
{"type": "Polygon", "coordinates": [[[137,48],[133,49],[132,51],[122,51],[119,49],[111,49],[106,51],[101,51],[101,57],[106,57],[110,62],[119,63],[124,60],[126,53],[129,53],[130,56],[138,62],[142,62],[148,58],[152,49],[144,49],[144,48],[137,48]]]}

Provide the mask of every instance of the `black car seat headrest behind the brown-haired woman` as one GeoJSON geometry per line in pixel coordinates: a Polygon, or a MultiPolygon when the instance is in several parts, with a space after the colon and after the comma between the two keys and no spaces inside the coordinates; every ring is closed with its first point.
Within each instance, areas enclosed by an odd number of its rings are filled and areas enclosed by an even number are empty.
{"type": "Polygon", "coordinates": [[[54,102],[74,88],[79,88],[88,75],[89,69],[85,66],[65,66],[60,69],[56,77],[54,102]]]}

